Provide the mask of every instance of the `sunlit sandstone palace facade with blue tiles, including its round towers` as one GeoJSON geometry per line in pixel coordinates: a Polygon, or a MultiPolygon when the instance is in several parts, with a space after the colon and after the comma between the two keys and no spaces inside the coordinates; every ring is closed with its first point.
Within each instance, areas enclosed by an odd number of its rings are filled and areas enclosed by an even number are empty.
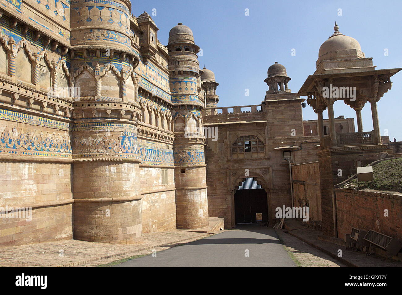
{"type": "Polygon", "coordinates": [[[183,135],[206,91],[191,29],[166,47],[146,12],[100,2],[0,8],[0,207],[32,208],[0,220],[0,246],[208,226],[205,137],[183,135]]]}

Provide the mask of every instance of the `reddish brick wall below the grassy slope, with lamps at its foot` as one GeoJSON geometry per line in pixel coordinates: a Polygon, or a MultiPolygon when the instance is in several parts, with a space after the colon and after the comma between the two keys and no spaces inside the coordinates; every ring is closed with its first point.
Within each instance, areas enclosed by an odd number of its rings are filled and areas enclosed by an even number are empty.
{"type": "Polygon", "coordinates": [[[352,227],[375,230],[402,242],[402,194],[373,190],[335,189],[338,238],[352,227]],[[388,217],[384,210],[388,209],[388,217]]]}

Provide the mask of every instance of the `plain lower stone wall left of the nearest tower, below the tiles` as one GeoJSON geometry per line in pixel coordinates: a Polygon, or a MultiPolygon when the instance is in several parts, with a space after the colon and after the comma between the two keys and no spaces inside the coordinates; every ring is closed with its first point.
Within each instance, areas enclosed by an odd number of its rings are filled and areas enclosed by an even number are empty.
{"type": "Polygon", "coordinates": [[[0,211],[8,208],[0,218],[0,246],[72,239],[70,164],[2,161],[0,170],[0,211]],[[12,215],[16,208],[29,209],[12,215]]]}

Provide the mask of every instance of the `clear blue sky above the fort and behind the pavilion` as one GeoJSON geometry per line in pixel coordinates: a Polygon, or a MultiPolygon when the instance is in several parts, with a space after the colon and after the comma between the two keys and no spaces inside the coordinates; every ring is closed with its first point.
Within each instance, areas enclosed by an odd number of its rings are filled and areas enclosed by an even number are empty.
{"type": "MultiPolygon", "coordinates": [[[[189,26],[195,43],[203,49],[199,57],[215,72],[219,83],[218,106],[260,104],[268,85],[267,69],[275,59],[291,77],[289,88],[297,92],[308,75],[316,69],[320,45],[339,31],[359,41],[366,57],[373,57],[376,69],[402,67],[402,1],[241,1],[188,0],[131,1],[132,13],[144,10],[152,16],[158,39],[167,45],[170,28],[178,22],[189,26]],[[248,8],[250,15],[245,16],[248,8]],[[338,9],[342,16],[338,16],[338,9]],[[291,50],[295,49],[295,56],[291,50]],[[388,56],[384,56],[388,49],[388,56]],[[245,89],[250,96],[244,96],[245,89]]],[[[381,135],[388,129],[390,139],[402,140],[402,71],[391,78],[392,90],[377,104],[381,135]]],[[[335,117],[355,118],[355,112],[343,102],[334,105],[335,117]]],[[[324,116],[328,118],[326,111],[324,116]]],[[[363,129],[373,129],[369,103],[362,111],[363,129]]],[[[316,119],[307,106],[304,120],[316,119]]],[[[325,118],[325,117],[324,117],[325,118]]],[[[356,120],[356,119],[355,119],[356,120]]],[[[357,131],[357,126],[355,127],[357,131]]]]}

